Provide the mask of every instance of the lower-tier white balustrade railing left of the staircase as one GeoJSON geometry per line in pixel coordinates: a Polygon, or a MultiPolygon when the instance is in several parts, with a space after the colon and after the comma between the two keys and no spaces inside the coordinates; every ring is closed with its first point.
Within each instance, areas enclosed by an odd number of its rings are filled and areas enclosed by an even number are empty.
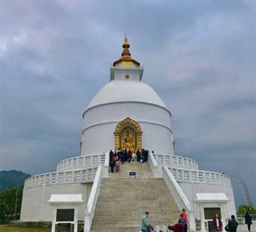
{"type": "Polygon", "coordinates": [[[25,180],[24,188],[36,186],[47,186],[54,184],[74,184],[93,182],[97,167],[84,168],[80,170],[55,171],[34,175],[25,180]]]}

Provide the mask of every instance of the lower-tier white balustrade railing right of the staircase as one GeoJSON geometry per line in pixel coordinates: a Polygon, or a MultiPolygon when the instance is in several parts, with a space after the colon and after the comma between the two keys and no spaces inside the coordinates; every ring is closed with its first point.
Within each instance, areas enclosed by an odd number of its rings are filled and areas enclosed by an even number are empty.
{"type": "Polygon", "coordinates": [[[178,182],[194,182],[204,184],[220,184],[231,187],[231,180],[225,174],[212,171],[199,171],[167,167],[178,182]]]}

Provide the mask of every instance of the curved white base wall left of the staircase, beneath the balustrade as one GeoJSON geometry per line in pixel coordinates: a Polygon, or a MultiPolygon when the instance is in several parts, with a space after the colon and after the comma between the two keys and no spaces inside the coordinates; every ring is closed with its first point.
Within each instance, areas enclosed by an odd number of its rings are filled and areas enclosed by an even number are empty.
{"type": "Polygon", "coordinates": [[[52,194],[81,194],[84,203],[78,206],[78,220],[84,220],[85,208],[92,188],[89,184],[56,184],[23,189],[21,221],[52,221],[52,194]]]}

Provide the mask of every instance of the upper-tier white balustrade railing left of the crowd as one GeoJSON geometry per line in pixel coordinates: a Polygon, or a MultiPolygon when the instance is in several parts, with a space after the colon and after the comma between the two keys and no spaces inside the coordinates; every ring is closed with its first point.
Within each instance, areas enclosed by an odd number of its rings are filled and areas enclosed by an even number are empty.
{"type": "Polygon", "coordinates": [[[61,160],[58,163],[57,171],[78,169],[86,166],[99,166],[105,162],[105,153],[80,155],[69,159],[61,160]]]}

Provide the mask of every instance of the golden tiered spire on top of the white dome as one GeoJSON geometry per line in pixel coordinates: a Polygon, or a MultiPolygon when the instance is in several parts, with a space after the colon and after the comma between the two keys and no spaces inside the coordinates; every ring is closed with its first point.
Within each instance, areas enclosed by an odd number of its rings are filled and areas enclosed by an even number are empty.
{"type": "Polygon", "coordinates": [[[128,39],[125,36],[125,40],[123,43],[122,57],[120,59],[118,59],[117,61],[114,61],[114,63],[113,63],[114,67],[121,66],[122,64],[123,64],[123,66],[125,66],[125,68],[130,68],[131,66],[134,66],[136,68],[140,67],[140,63],[131,57],[129,47],[130,47],[130,44],[128,43],[128,39]]]}

